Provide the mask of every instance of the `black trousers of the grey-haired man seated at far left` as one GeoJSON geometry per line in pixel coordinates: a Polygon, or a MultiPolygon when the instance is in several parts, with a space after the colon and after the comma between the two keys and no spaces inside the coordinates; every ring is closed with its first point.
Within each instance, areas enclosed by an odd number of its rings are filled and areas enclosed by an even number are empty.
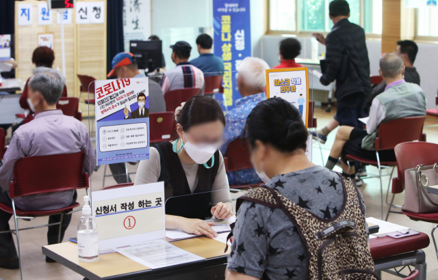
{"type": "MultiPolygon", "coordinates": [[[[76,202],[77,193],[75,191],[75,195],[73,196],[73,203],[76,202]]],[[[8,205],[12,207],[12,200],[10,199],[8,193],[3,191],[0,188],[0,202],[2,204],[8,205]]],[[[10,230],[9,220],[12,214],[6,213],[3,210],[0,210],[0,232],[10,230]]],[[[49,216],[49,223],[59,223],[61,221],[61,214],[49,216]]],[[[62,218],[61,224],[61,240],[64,238],[64,233],[71,221],[71,215],[64,214],[62,218]]],[[[57,244],[57,235],[59,232],[59,225],[51,225],[47,229],[47,243],[57,244]]],[[[12,234],[0,234],[0,257],[12,258],[16,257],[16,249],[14,244],[14,239],[12,238],[12,234]]]]}

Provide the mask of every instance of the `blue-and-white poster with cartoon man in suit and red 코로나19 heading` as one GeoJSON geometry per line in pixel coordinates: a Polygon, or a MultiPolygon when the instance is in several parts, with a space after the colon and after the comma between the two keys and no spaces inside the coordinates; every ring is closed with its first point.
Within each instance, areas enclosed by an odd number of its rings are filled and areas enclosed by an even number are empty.
{"type": "Polygon", "coordinates": [[[147,78],[95,81],[97,165],[149,159],[147,78]]]}

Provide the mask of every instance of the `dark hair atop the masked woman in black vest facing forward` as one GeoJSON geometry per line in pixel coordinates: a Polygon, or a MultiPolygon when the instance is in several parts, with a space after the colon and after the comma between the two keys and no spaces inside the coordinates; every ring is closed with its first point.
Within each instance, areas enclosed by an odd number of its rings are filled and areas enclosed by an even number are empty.
{"type": "Polygon", "coordinates": [[[178,117],[178,124],[187,131],[190,126],[220,120],[225,126],[225,117],[219,103],[207,96],[193,96],[184,105],[178,117]]]}

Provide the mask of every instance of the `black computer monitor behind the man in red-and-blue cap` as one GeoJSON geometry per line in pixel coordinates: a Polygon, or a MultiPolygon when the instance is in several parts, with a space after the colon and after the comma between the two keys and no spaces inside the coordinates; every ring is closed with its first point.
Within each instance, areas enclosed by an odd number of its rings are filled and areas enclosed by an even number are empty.
{"type": "Polygon", "coordinates": [[[136,58],[138,69],[153,72],[163,67],[162,41],[129,41],[129,53],[136,58]]]}

